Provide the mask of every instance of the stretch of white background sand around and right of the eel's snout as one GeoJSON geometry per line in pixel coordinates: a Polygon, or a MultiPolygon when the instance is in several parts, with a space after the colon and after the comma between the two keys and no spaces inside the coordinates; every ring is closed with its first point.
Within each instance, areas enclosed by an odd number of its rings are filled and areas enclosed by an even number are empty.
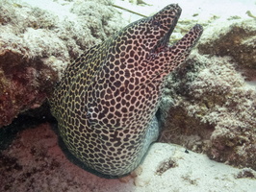
{"type": "MultiPolygon", "coordinates": [[[[211,20],[213,16],[219,16],[219,19],[225,20],[230,16],[240,16],[242,18],[249,18],[245,13],[251,11],[256,14],[256,1],[255,0],[143,0],[145,3],[152,6],[136,6],[128,3],[128,0],[114,0],[115,5],[124,7],[134,12],[140,12],[141,14],[151,15],[154,12],[158,12],[166,5],[171,3],[177,3],[182,8],[182,14],[180,19],[192,19],[205,22],[211,20]],[[198,13],[197,16],[192,16],[194,13],[198,13]]],[[[124,12],[124,18],[130,18],[130,21],[135,21],[141,16],[124,12]]]]}

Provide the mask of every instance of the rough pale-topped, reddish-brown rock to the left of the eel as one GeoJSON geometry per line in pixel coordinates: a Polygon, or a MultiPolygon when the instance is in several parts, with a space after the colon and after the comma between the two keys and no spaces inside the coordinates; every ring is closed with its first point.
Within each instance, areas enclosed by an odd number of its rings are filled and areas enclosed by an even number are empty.
{"type": "MultiPolygon", "coordinates": [[[[110,1],[72,1],[65,15],[0,2],[0,127],[51,93],[65,65],[122,24],[110,1]]],[[[49,5],[50,6],[50,5],[49,5]]]]}

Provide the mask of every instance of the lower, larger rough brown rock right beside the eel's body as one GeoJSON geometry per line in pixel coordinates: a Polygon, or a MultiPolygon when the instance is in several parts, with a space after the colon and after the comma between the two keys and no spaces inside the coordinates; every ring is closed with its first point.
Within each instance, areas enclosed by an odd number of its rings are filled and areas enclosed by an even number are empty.
{"type": "Polygon", "coordinates": [[[166,97],[176,99],[163,101],[162,141],[256,169],[256,91],[230,59],[195,54],[168,84],[166,97]]]}

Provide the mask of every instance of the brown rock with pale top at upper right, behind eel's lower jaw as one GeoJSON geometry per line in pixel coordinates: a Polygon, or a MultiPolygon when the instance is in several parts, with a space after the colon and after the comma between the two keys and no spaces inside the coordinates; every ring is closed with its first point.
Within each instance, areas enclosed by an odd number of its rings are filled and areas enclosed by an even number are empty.
{"type": "Polygon", "coordinates": [[[245,73],[247,80],[256,78],[255,19],[238,19],[213,23],[200,39],[199,53],[210,56],[229,56],[245,73]],[[214,30],[213,30],[214,28],[214,30]]]}

